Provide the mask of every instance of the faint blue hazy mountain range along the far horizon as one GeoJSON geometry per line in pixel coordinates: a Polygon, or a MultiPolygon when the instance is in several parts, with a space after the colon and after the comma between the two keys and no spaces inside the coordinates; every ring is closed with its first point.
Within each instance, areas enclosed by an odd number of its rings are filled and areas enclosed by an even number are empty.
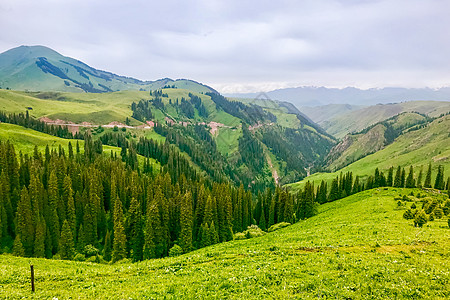
{"type": "MultiPolygon", "coordinates": [[[[343,89],[326,87],[297,87],[266,93],[273,100],[289,101],[297,107],[327,104],[375,105],[413,100],[450,101],[450,87],[430,88],[377,88],[362,90],[354,87],[343,89]]],[[[228,97],[255,98],[259,93],[227,94],[228,97]]]]}

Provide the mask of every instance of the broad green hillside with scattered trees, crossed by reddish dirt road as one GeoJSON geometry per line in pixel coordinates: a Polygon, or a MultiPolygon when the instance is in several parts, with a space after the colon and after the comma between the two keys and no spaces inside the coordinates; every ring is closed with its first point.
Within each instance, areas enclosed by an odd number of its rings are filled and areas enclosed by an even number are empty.
{"type": "Polygon", "coordinates": [[[286,106],[264,107],[173,87],[109,93],[0,90],[1,111],[28,110],[34,118],[81,133],[103,126],[94,138],[114,146],[120,145],[117,138],[167,138],[197,170],[215,180],[261,188],[303,178],[335,143],[320,126],[286,106]],[[114,133],[115,125],[126,126],[126,132],[114,133]]]}

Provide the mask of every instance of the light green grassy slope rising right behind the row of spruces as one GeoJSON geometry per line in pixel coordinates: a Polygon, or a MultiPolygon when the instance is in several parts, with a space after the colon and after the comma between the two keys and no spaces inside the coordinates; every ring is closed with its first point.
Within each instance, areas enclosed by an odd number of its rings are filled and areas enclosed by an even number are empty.
{"type": "Polygon", "coordinates": [[[433,180],[439,164],[444,166],[444,178],[447,178],[450,176],[449,128],[450,115],[447,115],[434,120],[425,128],[401,135],[383,150],[370,154],[337,172],[316,173],[288,186],[296,190],[307,181],[313,181],[318,184],[321,180],[325,180],[330,184],[340,172],[346,173],[349,171],[353,172],[353,176],[359,175],[364,178],[368,175],[373,175],[377,167],[381,171],[386,171],[391,166],[408,167],[413,165],[417,178],[419,168],[423,166],[425,172],[426,166],[430,162],[433,164],[433,180]]]}

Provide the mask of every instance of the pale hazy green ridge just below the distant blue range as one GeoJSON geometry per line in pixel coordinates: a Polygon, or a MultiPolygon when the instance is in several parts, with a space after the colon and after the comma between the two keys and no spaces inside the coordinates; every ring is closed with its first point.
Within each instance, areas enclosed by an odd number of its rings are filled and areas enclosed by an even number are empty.
{"type": "Polygon", "coordinates": [[[418,112],[437,117],[450,111],[446,101],[408,101],[372,106],[326,105],[301,107],[301,110],[329,134],[343,138],[347,133],[358,132],[403,112],[418,112]]]}

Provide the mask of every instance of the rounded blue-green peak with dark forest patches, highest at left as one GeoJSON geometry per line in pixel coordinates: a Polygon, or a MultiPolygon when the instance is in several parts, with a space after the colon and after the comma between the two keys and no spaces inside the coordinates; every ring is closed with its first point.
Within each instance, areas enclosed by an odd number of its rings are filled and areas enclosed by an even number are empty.
{"type": "Polygon", "coordinates": [[[103,93],[155,90],[175,86],[196,92],[216,92],[198,82],[164,78],[141,81],[97,70],[44,46],[20,46],[0,54],[0,87],[22,91],[103,93]]]}

